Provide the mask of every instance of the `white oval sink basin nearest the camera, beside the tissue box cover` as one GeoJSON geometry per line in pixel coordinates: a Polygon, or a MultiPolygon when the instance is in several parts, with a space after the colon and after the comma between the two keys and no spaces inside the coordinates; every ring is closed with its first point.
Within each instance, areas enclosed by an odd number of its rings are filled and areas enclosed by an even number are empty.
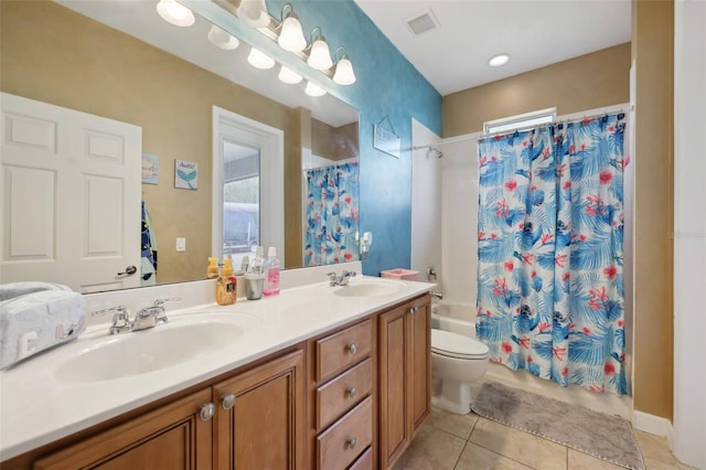
{"type": "Polygon", "coordinates": [[[98,382],[146,374],[213,353],[244,331],[237,322],[211,320],[104,337],[61,363],[54,375],[62,382],[98,382]]]}

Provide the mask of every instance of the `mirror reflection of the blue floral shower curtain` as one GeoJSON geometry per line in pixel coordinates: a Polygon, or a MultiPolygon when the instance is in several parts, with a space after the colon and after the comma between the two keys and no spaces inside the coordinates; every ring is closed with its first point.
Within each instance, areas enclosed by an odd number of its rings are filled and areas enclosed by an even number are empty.
{"type": "Polygon", "coordinates": [[[307,170],[304,266],[357,259],[357,162],[307,170]]]}

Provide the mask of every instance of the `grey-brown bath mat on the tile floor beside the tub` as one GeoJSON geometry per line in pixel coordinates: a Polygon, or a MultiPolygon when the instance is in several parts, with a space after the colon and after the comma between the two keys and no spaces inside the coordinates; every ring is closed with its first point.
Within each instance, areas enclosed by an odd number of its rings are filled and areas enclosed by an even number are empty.
{"type": "Polygon", "coordinates": [[[484,418],[632,470],[644,470],[630,421],[579,405],[485,382],[471,409],[484,418]]]}

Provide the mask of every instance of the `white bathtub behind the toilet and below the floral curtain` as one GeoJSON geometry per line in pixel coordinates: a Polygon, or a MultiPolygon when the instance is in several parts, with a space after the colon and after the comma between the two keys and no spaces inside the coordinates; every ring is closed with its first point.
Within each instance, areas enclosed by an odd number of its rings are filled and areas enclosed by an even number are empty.
{"type": "MultiPolygon", "coordinates": [[[[475,338],[475,306],[439,301],[431,303],[431,328],[475,338]]],[[[513,371],[503,364],[490,363],[484,377],[479,381],[500,382],[506,386],[579,404],[610,415],[632,420],[632,397],[610,393],[596,394],[579,386],[559,386],[552,381],[536,377],[525,371],[513,371]]]]}

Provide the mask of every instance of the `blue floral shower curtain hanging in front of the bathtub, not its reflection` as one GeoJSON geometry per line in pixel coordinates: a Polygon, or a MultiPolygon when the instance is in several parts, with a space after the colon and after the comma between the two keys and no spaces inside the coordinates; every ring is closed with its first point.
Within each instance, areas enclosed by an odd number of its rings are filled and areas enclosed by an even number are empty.
{"type": "Polygon", "coordinates": [[[491,361],[628,393],[624,116],[479,143],[478,337],[491,361]]]}

